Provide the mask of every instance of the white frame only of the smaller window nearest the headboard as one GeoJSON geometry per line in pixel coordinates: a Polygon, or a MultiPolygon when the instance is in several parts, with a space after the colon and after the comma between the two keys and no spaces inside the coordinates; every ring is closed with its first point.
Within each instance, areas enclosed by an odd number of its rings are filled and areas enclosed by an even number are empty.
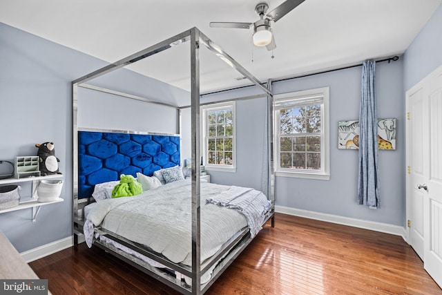
{"type": "Polygon", "coordinates": [[[203,164],[204,168],[207,171],[224,171],[224,172],[236,172],[236,102],[222,102],[218,104],[208,104],[200,107],[200,116],[202,118],[201,125],[201,146],[202,151],[201,155],[203,156],[203,164]],[[226,164],[209,164],[209,151],[208,151],[208,133],[209,129],[207,126],[207,112],[209,111],[218,111],[225,108],[232,109],[232,120],[233,120],[233,138],[232,138],[232,157],[233,161],[231,165],[226,164]]]}

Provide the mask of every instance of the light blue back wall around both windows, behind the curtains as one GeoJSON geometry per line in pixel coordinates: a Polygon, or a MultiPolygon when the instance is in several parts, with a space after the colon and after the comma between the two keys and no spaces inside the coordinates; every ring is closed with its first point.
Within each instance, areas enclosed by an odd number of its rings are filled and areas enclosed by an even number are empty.
{"type": "MultiPolygon", "coordinates": [[[[332,73],[274,82],[274,94],[329,86],[330,89],[330,173],[329,181],[276,178],[276,205],[334,214],[392,225],[403,225],[405,212],[405,106],[402,99],[403,61],[376,64],[378,117],[396,118],[396,151],[380,151],[381,209],[358,205],[358,151],[338,149],[338,121],[358,120],[361,66],[332,73]]],[[[218,99],[256,94],[254,88],[218,93],[218,99]],[[236,93],[235,93],[236,92],[236,93]],[[236,94],[236,95],[235,95],[236,94]]],[[[212,97],[212,99],[213,99],[212,97]]],[[[262,184],[262,134],[265,129],[265,99],[237,102],[238,171],[211,171],[213,182],[235,183],[260,188],[262,184]],[[243,166],[245,165],[245,166],[243,166]]]]}

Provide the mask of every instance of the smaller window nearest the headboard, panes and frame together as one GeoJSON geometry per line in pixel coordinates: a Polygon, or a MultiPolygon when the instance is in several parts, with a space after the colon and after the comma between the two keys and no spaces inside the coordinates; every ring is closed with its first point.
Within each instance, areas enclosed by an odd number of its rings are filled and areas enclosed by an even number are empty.
{"type": "Polygon", "coordinates": [[[202,107],[202,155],[208,170],[234,171],[235,104],[226,102],[202,107]]]}

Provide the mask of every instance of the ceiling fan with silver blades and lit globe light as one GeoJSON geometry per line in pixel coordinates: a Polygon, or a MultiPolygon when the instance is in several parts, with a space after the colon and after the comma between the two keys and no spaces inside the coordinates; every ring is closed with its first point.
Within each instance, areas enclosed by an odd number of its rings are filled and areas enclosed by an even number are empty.
{"type": "Polygon", "coordinates": [[[251,25],[253,25],[253,44],[256,46],[266,46],[267,50],[273,50],[276,48],[276,43],[272,34],[271,21],[278,21],[304,1],[305,0],[287,0],[269,13],[267,13],[269,5],[265,2],[259,3],[255,7],[255,12],[260,16],[260,19],[254,23],[211,22],[209,26],[211,28],[249,29],[251,25]]]}

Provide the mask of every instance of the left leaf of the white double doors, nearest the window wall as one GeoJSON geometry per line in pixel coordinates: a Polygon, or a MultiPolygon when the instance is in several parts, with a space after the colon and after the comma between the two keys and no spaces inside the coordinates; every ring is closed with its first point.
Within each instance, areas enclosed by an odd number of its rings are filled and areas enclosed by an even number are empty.
{"type": "Polygon", "coordinates": [[[408,181],[407,192],[410,196],[411,206],[407,206],[408,227],[410,230],[410,245],[423,260],[423,189],[419,184],[424,183],[424,161],[423,161],[423,135],[425,120],[423,106],[423,87],[418,84],[407,91],[408,109],[407,115],[407,159],[408,159],[408,181]],[[411,115],[412,114],[412,117],[411,115]]]}

